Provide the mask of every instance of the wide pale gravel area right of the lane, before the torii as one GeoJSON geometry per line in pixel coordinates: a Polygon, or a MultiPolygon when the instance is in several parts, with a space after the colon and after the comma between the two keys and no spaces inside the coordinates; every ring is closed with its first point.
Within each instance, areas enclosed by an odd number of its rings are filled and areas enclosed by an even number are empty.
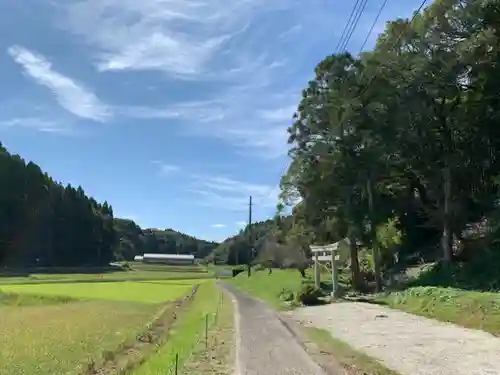
{"type": "Polygon", "coordinates": [[[402,375],[500,375],[500,339],[486,332],[358,302],[287,315],[329,330],[402,375]]]}

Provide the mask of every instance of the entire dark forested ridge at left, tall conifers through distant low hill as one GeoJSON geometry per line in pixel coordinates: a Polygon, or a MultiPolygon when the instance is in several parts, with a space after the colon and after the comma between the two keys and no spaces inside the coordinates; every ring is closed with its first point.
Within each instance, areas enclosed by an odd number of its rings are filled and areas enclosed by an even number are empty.
{"type": "Polygon", "coordinates": [[[113,218],[81,187],[63,186],[0,144],[0,266],[90,266],[143,253],[205,257],[216,243],[113,218]]]}

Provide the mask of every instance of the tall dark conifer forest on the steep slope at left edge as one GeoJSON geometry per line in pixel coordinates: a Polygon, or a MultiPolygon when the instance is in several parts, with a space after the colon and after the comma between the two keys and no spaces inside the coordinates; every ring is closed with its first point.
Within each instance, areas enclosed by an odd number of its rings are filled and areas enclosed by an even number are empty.
{"type": "Polygon", "coordinates": [[[113,210],[62,186],[0,144],[0,265],[98,265],[113,259],[113,210]]]}

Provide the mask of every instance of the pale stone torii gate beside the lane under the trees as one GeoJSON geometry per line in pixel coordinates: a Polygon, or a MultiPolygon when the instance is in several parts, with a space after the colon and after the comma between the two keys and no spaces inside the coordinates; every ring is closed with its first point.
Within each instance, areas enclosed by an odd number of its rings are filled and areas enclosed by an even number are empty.
{"type": "Polygon", "coordinates": [[[350,241],[348,238],[344,238],[338,242],[335,242],[330,245],[311,245],[311,252],[314,254],[314,283],[317,288],[320,287],[320,262],[331,262],[332,265],[332,297],[338,296],[338,268],[337,262],[340,260],[340,255],[346,254],[346,251],[349,248],[350,241]]]}

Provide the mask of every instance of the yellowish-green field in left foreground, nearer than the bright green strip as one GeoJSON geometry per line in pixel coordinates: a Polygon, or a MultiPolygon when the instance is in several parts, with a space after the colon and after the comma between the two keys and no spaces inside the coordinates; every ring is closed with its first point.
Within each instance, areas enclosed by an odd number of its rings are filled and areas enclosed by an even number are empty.
{"type": "Polygon", "coordinates": [[[0,307],[0,374],[82,373],[90,358],[100,363],[134,339],[157,310],[116,301],[0,307]]]}

